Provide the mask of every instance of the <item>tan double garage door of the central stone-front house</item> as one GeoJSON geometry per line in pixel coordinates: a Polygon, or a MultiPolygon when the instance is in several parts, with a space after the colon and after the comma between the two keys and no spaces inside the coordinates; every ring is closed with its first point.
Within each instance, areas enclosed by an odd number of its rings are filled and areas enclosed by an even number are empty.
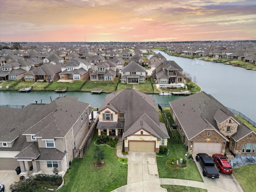
{"type": "Polygon", "coordinates": [[[155,141],[129,141],[129,151],[155,152],[155,141]]]}

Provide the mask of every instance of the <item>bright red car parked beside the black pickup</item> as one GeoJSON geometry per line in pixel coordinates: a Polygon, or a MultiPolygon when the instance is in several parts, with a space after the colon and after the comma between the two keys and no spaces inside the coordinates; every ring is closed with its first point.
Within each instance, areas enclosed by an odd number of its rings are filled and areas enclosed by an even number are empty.
{"type": "Polygon", "coordinates": [[[218,172],[222,172],[224,174],[232,174],[233,169],[224,155],[213,154],[212,159],[218,168],[218,172]]]}

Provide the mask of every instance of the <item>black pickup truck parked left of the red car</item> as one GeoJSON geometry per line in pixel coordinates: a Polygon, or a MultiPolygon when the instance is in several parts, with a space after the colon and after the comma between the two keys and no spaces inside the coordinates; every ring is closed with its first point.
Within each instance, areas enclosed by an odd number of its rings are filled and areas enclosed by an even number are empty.
{"type": "Polygon", "coordinates": [[[220,174],[216,170],[214,166],[214,161],[212,158],[206,154],[206,153],[198,153],[196,154],[196,161],[199,162],[199,164],[202,167],[203,170],[203,176],[207,176],[208,178],[219,178],[220,174]]]}

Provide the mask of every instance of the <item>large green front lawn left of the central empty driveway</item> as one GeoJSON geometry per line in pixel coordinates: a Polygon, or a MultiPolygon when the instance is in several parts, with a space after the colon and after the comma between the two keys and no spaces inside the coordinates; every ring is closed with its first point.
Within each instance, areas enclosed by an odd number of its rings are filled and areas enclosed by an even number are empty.
{"type": "Polygon", "coordinates": [[[105,166],[93,167],[93,156],[97,132],[85,154],[84,159],[74,159],[69,173],[64,176],[65,184],[59,192],[110,192],[127,184],[128,165],[121,164],[116,149],[100,146],[106,152],[105,166]]]}

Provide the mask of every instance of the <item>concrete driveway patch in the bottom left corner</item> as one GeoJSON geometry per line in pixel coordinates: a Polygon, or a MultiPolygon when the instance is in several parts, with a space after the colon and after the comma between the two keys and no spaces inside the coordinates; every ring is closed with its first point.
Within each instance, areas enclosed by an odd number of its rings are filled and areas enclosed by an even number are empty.
{"type": "Polygon", "coordinates": [[[15,170],[0,170],[0,183],[4,184],[5,192],[9,192],[10,185],[18,180],[20,180],[20,176],[15,170]]]}

